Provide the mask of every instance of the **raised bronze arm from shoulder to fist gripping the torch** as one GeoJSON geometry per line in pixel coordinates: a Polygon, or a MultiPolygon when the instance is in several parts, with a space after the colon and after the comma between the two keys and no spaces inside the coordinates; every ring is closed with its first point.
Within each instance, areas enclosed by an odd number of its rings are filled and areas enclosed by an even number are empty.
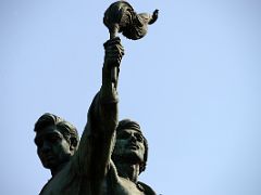
{"type": "Polygon", "coordinates": [[[108,171],[117,125],[116,82],[111,81],[111,69],[119,69],[123,48],[116,38],[105,42],[104,49],[102,86],[90,105],[87,125],[75,154],[78,173],[91,180],[102,180],[108,171]]]}

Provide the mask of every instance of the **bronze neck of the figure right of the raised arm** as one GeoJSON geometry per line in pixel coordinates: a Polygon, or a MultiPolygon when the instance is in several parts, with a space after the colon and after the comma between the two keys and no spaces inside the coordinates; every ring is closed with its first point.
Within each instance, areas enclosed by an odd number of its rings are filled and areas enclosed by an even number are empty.
{"type": "Polygon", "coordinates": [[[139,164],[117,162],[115,164],[120,177],[137,183],[139,174],[139,164]]]}

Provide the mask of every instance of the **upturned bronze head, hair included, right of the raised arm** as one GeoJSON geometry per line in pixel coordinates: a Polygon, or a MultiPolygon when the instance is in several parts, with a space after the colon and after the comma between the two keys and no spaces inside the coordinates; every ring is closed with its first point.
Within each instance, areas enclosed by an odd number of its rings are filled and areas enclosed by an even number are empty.
{"type": "Polygon", "coordinates": [[[124,119],[116,128],[116,142],[112,154],[114,162],[130,161],[139,164],[139,173],[146,168],[148,142],[138,122],[124,119]]]}

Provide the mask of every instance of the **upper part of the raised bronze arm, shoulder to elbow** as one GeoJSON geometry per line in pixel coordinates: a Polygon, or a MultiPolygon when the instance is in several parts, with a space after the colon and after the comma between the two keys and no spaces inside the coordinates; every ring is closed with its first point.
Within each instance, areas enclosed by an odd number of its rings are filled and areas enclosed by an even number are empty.
{"type": "Polygon", "coordinates": [[[79,146],[73,158],[79,174],[103,179],[108,172],[117,125],[117,102],[102,102],[100,93],[94,99],[79,146]]]}

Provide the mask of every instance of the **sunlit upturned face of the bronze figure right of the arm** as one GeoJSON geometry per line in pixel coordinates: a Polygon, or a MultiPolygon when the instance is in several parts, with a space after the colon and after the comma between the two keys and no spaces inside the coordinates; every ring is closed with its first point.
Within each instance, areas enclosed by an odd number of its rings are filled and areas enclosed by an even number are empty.
{"type": "Polygon", "coordinates": [[[117,159],[134,160],[144,162],[145,140],[142,134],[134,129],[122,129],[116,134],[116,143],[113,155],[117,159]]]}

